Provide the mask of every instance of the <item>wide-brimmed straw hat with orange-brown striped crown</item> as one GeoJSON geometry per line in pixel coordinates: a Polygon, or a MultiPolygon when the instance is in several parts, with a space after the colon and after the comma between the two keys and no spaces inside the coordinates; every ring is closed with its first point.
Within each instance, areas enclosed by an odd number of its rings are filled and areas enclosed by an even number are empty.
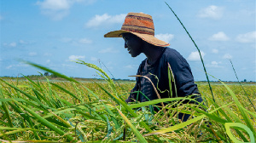
{"type": "Polygon", "coordinates": [[[122,37],[122,33],[125,32],[130,32],[155,46],[166,47],[170,45],[170,43],[154,37],[154,22],[149,14],[128,13],[121,30],[110,31],[104,37],[122,37]]]}

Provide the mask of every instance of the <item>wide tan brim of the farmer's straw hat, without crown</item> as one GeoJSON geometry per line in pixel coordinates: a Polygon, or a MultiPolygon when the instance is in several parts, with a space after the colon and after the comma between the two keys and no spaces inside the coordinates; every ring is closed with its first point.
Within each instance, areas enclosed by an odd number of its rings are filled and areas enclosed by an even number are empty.
{"type": "Polygon", "coordinates": [[[105,34],[104,37],[122,37],[122,33],[127,33],[127,32],[130,32],[131,34],[134,34],[137,37],[140,37],[141,39],[143,39],[143,41],[146,41],[147,43],[151,43],[155,46],[166,47],[166,46],[170,45],[170,43],[166,43],[166,42],[154,37],[153,35],[142,34],[142,33],[137,33],[137,32],[133,32],[133,31],[125,31],[125,30],[110,31],[107,34],[105,34]]]}

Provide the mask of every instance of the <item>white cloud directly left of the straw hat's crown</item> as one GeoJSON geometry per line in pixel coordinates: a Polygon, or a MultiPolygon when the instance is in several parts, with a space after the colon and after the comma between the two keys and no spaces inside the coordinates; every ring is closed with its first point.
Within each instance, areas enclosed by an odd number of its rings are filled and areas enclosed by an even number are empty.
{"type": "Polygon", "coordinates": [[[109,15],[109,14],[96,14],[95,17],[90,19],[87,23],[85,23],[85,27],[97,27],[97,26],[106,26],[115,23],[123,23],[125,21],[126,14],[116,14],[116,15],[109,15]]]}

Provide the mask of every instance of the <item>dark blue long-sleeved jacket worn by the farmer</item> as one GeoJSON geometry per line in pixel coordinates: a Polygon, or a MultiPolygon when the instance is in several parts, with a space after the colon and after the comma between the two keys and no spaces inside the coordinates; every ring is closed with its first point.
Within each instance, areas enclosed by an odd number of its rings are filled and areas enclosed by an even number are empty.
{"type": "MultiPolygon", "coordinates": [[[[162,54],[160,54],[160,58],[153,65],[148,65],[147,59],[143,60],[138,68],[137,75],[149,77],[154,83],[154,87],[158,89],[160,98],[172,98],[176,97],[176,94],[177,97],[200,94],[187,60],[175,49],[165,48],[162,54]],[[172,68],[172,73],[175,78],[175,82],[172,82],[172,96],[169,92],[168,63],[172,68]],[[174,86],[176,86],[177,93],[174,86]]],[[[150,83],[147,78],[137,77],[136,80],[137,83],[134,89],[131,89],[131,94],[128,99],[125,100],[126,102],[137,99],[141,102],[148,101],[148,99],[158,99],[152,83],[150,83]],[[145,94],[148,99],[143,94],[139,94],[137,97],[137,93],[133,92],[138,90],[145,94]]],[[[201,96],[197,96],[197,98],[198,101],[201,102],[201,96]]]]}

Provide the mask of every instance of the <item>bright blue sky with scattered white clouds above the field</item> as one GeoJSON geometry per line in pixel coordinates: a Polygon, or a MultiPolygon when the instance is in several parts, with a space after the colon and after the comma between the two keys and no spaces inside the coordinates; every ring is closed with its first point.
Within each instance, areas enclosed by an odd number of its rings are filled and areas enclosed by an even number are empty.
{"type": "MultiPolygon", "coordinates": [[[[256,81],[255,0],[166,0],[201,49],[207,72],[223,81],[256,81]]],[[[0,1],[0,76],[42,72],[18,59],[47,66],[69,77],[96,77],[71,60],[102,66],[115,78],[137,73],[146,57],[132,58],[119,30],[129,12],[154,19],[155,37],[171,43],[188,60],[195,80],[206,80],[201,60],[165,1],[159,0],[3,0],[0,1]],[[108,70],[99,61],[108,67],[108,70]]],[[[108,72],[108,74],[110,74],[108,72]]],[[[112,76],[111,76],[112,77],[112,76]]],[[[214,78],[210,78],[214,80],[214,78]]]]}

